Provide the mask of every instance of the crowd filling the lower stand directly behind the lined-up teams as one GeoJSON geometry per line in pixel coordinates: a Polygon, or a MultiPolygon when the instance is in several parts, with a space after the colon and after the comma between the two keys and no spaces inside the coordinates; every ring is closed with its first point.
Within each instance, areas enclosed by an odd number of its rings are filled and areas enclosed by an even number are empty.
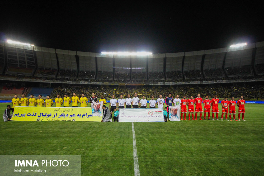
{"type": "Polygon", "coordinates": [[[166,98],[169,93],[172,93],[173,97],[178,94],[181,98],[183,95],[190,97],[191,95],[196,97],[197,93],[201,94],[201,97],[204,98],[206,95],[209,98],[213,98],[214,95],[218,95],[220,98],[234,96],[239,98],[244,96],[244,99],[255,99],[260,98],[264,99],[264,87],[262,85],[234,85],[234,86],[224,86],[223,84],[218,85],[208,85],[208,86],[175,86],[175,87],[139,87],[139,88],[128,88],[128,87],[84,87],[84,86],[68,86],[68,87],[54,87],[51,97],[56,98],[56,94],[59,93],[64,95],[68,94],[69,97],[72,97],[73,92],[77,93],[77,96],[81,96],[82,93],[88,98],[92,95],[92,92],[96,93],[97,98],[101,95],[104,95],[106,99],[111,99],[112,95],[124,97],[127,94],[131,94],[132,97],[134,93],[138,93],[141,98],[143,95],[146,98],[150,99],[151,96],[155,98],[159,97],[159,94],[163,95],[163,98],[166,98]],[[141,95],[140,95],[141,94],[141,95]]]}

